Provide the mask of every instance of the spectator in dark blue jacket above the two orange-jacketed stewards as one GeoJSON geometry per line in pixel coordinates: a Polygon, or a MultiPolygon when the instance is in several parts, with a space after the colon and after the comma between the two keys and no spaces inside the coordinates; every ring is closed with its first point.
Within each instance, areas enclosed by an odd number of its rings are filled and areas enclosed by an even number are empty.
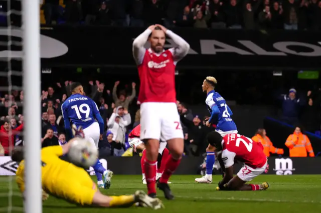
{"type": "Polygon", "coordinates": [[[289,89],[289,94],[282,97],[282,120],[289,124],[298,122],[299,108],[303,104],[300,98],[296,97],[296,90],[289,89]]]}

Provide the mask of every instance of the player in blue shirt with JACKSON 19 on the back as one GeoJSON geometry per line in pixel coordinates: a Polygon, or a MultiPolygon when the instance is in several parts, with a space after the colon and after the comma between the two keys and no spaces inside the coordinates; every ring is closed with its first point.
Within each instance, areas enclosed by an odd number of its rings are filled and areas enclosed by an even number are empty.
{"type": "MultiPolygon", "coordinates": [[[[99,139],[102,139],[104,131],[104,120],[99,113],[98,106],[91,98],[84,95],[84,88],[81,83],[72,83],[70,90],[71,96],[61,105],[66,133],[70,138],[73,137],[70,125],[70,121],[72,121],[77,128],[83,128],[85,138],[98,148],[99,139]]],[[[112,171],[106,170],[99,159],[92,167],[97,176],[98,187],[109,188],[110,178],[113,175],[112,171]],[[104,180],[102,177],[104,177],[104,180]]]]}

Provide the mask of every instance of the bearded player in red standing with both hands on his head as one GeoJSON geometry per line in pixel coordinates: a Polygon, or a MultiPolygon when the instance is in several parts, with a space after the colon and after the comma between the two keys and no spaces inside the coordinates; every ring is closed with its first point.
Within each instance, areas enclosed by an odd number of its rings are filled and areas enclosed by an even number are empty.
{"type": "Polygon", "coordinates": [[[167,184],[179,166],[184,149],[183,130],[176,106],[175,67],[189,51],[190,45],[179,35],[156,24],[149,26],[133,41],[132,52],[140,78],[140,139],[146,145],[145,175],[148,195],[156,196],[155,173],[159,138],[168,142],[170,157],[157,183],[167,199],[174,195],[167,184]],[[177,47],[165,50],[166,35],[177,47]],[[149,41],[150,48],[144,44],[149,41]]]}

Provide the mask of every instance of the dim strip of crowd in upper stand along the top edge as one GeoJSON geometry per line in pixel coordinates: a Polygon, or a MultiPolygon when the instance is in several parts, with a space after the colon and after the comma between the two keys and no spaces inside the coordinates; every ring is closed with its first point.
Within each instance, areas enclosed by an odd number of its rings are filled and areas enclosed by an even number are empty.
{"type": "Polygon", "coordinates": [[[321,29],[320,0],[44,0],[46,24],[321,29]]]}

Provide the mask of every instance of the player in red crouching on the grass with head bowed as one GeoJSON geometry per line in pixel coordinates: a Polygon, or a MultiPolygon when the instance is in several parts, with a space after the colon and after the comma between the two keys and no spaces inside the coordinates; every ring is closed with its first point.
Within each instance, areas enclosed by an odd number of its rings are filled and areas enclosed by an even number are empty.
{"type": "Polygon", "coordinates": [[[216,147],[218,160],[225,170],[223,179],[217,190],[265,190],[267,182],[262,184],[245,184],[268,169],[267,158],[260,143],[237,133],[227,134],[224,137],[216,131],[207,135],[208,142],[216,147]],[[233,177],[234,160],[244,163],[240,171],[233,177]]]}

